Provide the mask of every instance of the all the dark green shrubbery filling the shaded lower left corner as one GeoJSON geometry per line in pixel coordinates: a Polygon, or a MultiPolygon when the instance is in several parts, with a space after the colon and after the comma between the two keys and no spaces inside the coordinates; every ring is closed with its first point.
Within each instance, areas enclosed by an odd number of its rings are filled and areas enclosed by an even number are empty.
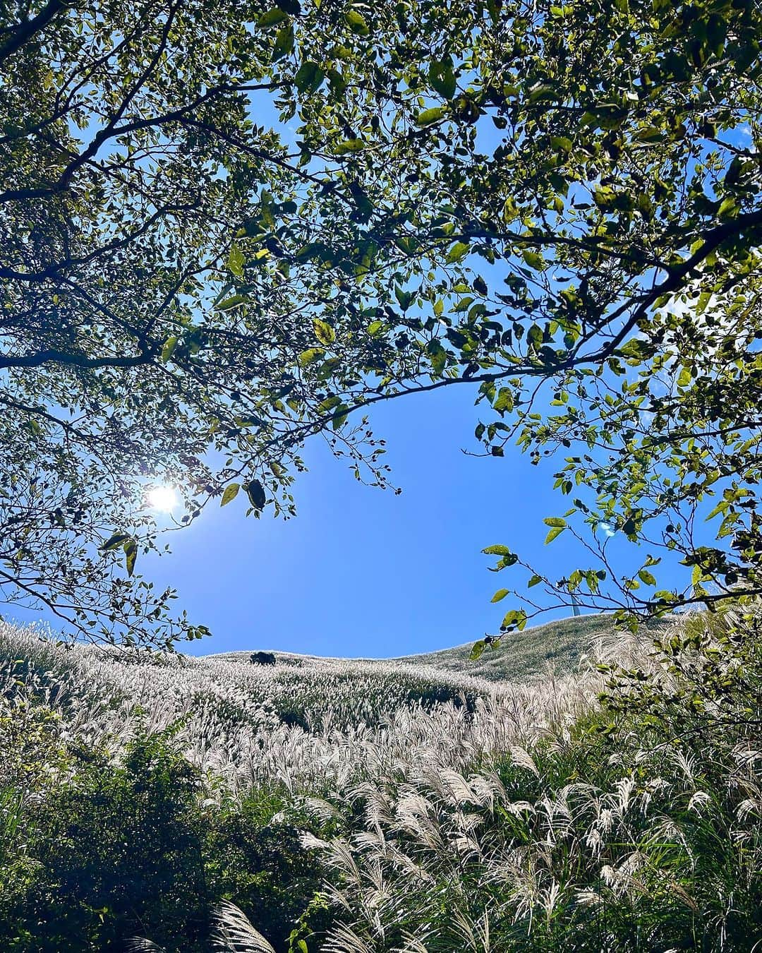
{"type": "Polygon", "coordinates": [[[4,949],[94,953],[148,933],[202,953],[211,907],[229,896],[285,948],[319,880],[294,828],[272,821],[282,801],[202,801],[201,777],[166,735],[134,740],[118,765],[90,751],[68,770],[42,805],[16,807],[23,839],[6,824],[4,949]]]}

